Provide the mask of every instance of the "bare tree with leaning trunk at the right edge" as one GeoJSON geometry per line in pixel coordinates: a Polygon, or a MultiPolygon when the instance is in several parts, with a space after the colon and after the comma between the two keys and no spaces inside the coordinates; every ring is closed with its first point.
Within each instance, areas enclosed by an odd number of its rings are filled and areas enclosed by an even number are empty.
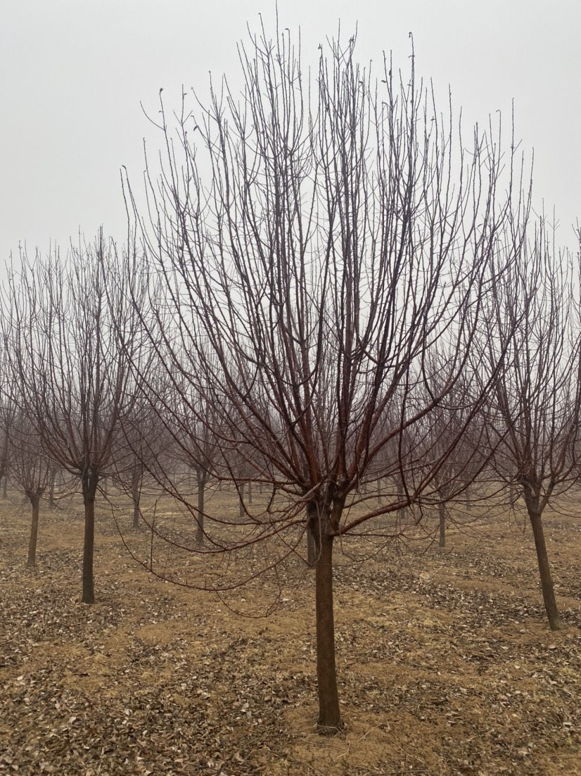
{"type": "Polygon", "coordinates": [[[578,476],[576,446],[581,411],[579,275],[572,257],[556,251],[544,219],[526,234],[511,270],[490,298],[485,331],[473,349],[486,379],[505,352],[486,407],[493,472],[517,487],[531,522],[545,611],[551,629],[562,627],[555,601],[542,514],[578,476]]]}

